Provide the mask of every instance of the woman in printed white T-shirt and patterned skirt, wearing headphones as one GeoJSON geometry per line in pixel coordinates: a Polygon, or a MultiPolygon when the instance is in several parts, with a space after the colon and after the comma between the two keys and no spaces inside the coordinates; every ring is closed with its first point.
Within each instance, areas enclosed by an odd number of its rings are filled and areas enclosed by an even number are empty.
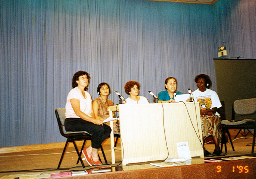
{"type": "MultiPolygon", "coordinates": [[[[208,75],[197,75],[195,82],[198,89],[193,92],[193,96],[200,103],[203,144],[206,137],[212,136],[215,145],[213,154],[220,155],[219,142],[221,141],[222,125],[221,119],[216,111],[217,108],[222,106],[221,102],[219,101],[218,94],[210,90],[212,81],[208,75]]],[[[210,154],[207,151],[204,151],[204,153],[206,156],[210,154]]]]}

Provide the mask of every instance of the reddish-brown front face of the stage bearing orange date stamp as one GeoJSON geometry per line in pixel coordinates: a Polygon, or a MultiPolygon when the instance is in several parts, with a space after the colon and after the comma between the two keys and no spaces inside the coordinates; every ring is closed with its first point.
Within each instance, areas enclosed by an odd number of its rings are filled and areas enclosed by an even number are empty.
{"type": "MultiPolygon", "coordinates": [[[[114,167],[113,167],[114,168],[114,167]]],[[[117,169],[118,167],[116,167],[117,169]]],[[[255,178],[256,159],[89,174],[76,178],[255,178]]],[[[70,177],[71,178],[71,177],[70,177]]],[[[73,178],[73,177],[72,177],[73,178]]]]}

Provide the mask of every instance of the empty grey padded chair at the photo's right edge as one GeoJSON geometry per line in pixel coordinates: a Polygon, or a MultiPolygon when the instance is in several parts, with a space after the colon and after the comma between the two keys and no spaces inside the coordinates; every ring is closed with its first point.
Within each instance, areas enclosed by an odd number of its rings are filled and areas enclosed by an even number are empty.
{"type": "Polygon", "coordinates": [[[252,154],[254,153],[256,121],[254,119],[247,119],[246,117],[247,117],[247,115],[252,115],[255,113],[256,113],[256,98],[234,101],[233,106],[232,106],[231,121],[229,121],[229,120],[222,121],[223,135],[222,135],[221,151],[222,151],[223,144],[224,144],[225,152],[227,153],[225,133],[228,134],[230,144],[234,151],[234,146],[233,146],[233,143],[232,143],[232,140],[230,137],[230,133],[228,131],[229,129],[240,129],[240,131],[241,131],[241,129],[247,129],[248,131],[250,131],[249,129],[253,129],[254,132],[252,133],[252,135],[253,135],[252,154]],[[244,119],[240,120],[240,121],[236,121],[235,114],[244,116],[244,119]]]}

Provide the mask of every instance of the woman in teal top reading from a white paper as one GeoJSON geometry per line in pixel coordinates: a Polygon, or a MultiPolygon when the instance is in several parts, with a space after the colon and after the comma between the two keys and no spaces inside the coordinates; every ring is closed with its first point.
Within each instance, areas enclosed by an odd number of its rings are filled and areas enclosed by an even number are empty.
{"type": "Polygon", "coordinates": [[[158,103],[170,103],[170,102],[174,102],[174,92],[176,92],[176,94],[183,94],[180,91],[177,91],[177,80],[174,77],[168,77],[165,80],[165,91],[161,91],[158,93],[157,97],[158,97],[158,103]]]}

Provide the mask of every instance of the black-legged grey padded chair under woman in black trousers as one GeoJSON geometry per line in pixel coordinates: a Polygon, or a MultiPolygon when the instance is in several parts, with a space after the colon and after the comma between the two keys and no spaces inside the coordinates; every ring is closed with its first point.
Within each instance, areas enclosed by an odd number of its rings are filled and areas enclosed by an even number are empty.
{"type": "MultiPolygon", "coordinates": [[[[83,166],[83,168],[85,168],[83,160],[81,158],[81,154],[82,154],[82,150],[84,149],[84,145],[85,145],[86,140],[90,140],[91,139],[91,135],[88,132],[86,132],[86,131],[79,131],[79,132],[65,131],[65,129],[64,129],[64,122],[65,122],[65,118],[66,118],[65,113],[66,113],[66,109],[65,108],[57,108],[57,109],[55,109],[55,115],[56,115],[56,118],[57,118],[57,121],[58,121],[58,126],[59,126],[59,130],[60,130],[60,134],[63,137],[67,138],[67,141],[66,141],[65,147],[63,149],[63,152],[62,152],[62,155],[61,155],[61,158],[60,158],[59,165],[58,165],[57,169],[59,169],[59,167],[60,167],[60,164],[62,162],[63,156],[65,154],[65,151],[66,151],[66,148],[67,148],[67,145],[68,145],[69,142],[73,143],[73,145],[75,147],[75,150],[76,150],[76,153],[78,155],[78,160],[77,160],[76,164],[78,164],[79,161],[80,161],[82,166],[83,166]],[[79,151],[77,149],[77,146],[75,144],[75,141],[78,141],[78,140],[84,140],[84,143],[82,145],[80,153],[79,153],[79,151]]],[[[107,163],[104,151],[102,149],[102,146],[100,146],[100,149],[102,151],[102,155],[104,157],[105,163],[107,163]]],[[[101,161],[100,157],[99,157],[99,160],[101,161]]]]}

